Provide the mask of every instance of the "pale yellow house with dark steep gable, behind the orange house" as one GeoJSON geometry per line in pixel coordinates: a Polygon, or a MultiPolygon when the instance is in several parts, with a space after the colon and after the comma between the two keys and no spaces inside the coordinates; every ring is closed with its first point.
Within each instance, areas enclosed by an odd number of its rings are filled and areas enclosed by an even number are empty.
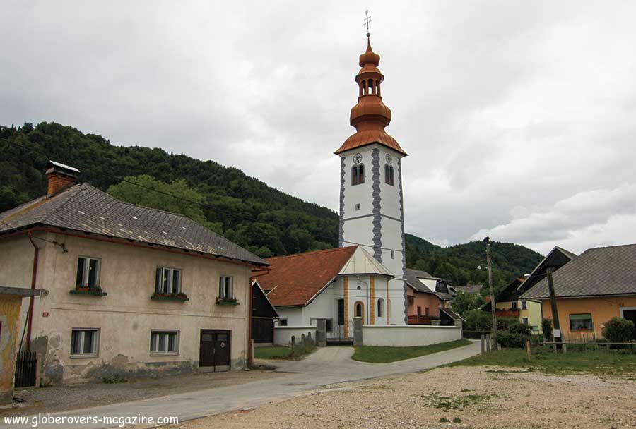
{"type": "Polygon", "coordinates": [[[558,270],[576,257],[574,253],[558,246],[553,248],[530,274],[524,278],[514,279],[497,295],[497,316],[519,318],[519,322],[531,327],[533,334],[541,334],[541,301],[525,298],[523,294],[545,277],[548,268],[558,270]]]}

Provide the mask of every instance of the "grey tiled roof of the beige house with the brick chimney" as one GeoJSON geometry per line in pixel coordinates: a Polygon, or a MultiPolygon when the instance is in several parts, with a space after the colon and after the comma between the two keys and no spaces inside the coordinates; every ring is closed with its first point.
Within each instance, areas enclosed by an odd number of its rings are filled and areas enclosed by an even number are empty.
{"type": "Polygon", "coordinates": [[[124,203],[88,183],[0,213],[0,221],[0,234],[35,225],[56,226],[269,265],[192,219],[124,203]]]}

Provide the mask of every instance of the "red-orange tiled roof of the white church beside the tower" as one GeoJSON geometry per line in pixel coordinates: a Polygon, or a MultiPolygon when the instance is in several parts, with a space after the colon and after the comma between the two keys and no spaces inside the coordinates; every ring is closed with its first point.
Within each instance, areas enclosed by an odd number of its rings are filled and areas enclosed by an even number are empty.
{"type": "Polygon", "coordinates": [[[268,258],[271,272],[259,276],[259,284],[264,291],[269,291],[267,298],[276,307],[305,306],[338,275],[356,248],[358,246],[348,246],[268,258]]]}

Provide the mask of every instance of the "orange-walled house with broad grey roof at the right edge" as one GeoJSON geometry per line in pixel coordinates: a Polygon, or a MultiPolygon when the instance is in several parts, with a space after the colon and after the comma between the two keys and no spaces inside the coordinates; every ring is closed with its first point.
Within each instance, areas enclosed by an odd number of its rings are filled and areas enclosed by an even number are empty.
{"type": "MultiPolygon", "coordinates": [[[[585,250],[553,280],[565,341],[602,337],[605,322],[614,317],[636,323],[636,244],[585,250]]],[[[541,301],[543,317],[553,318],[546,278],[522,298],[541,301]]]]}

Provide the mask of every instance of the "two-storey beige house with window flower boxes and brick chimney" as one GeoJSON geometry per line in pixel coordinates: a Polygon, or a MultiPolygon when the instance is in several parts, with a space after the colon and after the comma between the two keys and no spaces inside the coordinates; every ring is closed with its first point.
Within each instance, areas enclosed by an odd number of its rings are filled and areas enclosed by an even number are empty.
{"type": "Polygon", "coordinates": [[[48,291],[20,314],[42,384],[243,368],[250,277],[267,262],[50,167],[47,195],[0,213],[0,284],[48,291]]]}

